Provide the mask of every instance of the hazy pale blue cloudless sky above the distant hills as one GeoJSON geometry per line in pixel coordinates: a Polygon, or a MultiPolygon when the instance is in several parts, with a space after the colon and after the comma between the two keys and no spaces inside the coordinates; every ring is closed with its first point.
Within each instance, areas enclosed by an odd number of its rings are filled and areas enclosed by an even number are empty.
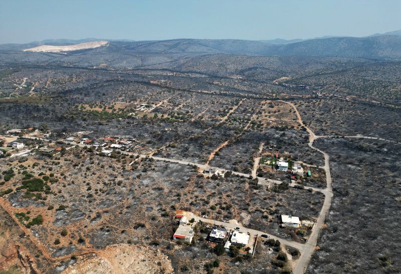
{"type": "Polygon", "coordinates": [[[0,44],[306,39],[401,29],[401,0],[0,0],[0,44]]]}

